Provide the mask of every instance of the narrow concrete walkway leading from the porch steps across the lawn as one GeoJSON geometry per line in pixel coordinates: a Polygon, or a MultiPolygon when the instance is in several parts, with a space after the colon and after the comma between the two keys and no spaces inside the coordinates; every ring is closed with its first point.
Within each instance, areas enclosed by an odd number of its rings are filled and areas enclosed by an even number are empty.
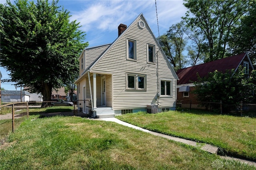
{"type": "MultiPolygon", "coordinates": [[[[134,129],[137,129],[137,130],[141,130],[143,132],[147,132],[147,133],[150,133],[150,134],[153,134],[155,136],[161,136],[163,138],[167,138],[169,140],[174,140],[176,142],[182,142],[184,144],[188,144],[188,145],[191,145],[191,146],[195,146],[195,147],[198,147],[202,150],[205,150],[207,152],[210,152],[212,154],[217,154],[218,152],[218,147],[216,146],[212,146],[210,144],[205,144],[205,143],[198,143],[198,142],[194,142],[194,141],[191,141],[191,140],[186,140],[186,139],[182,139],[182,138],[176,138],[176,137],[172,137],[172,136],[168,136],[166,134],[161,134],[161,133],[157,133],[157,132],[152,132],[150,130],[146,130],[144,128],[141,128],[141,127],[137,127],[137,126],[134,126],[134,125],[131,125],[129,123],[126,123],[126,122],[123,122],[123,121],[120,121],[119,119],[116,119],[115,117],[110,117],[110,118],[100,118],[100,119],[94,119],[94,120],[102,120],[102,121],[111,121],[111,122],[115,122],[115,123],[118,123],[120,125],[124,125],[126,127],[130,127],[130,128],[134,128],[134,129]]],[[[242,163],[246,163],[246,164],[249,164],[249,165],[252,165],[252,166],[255,166],[256,167],[256,162],[252,162],[252,161],[248,161],[248,160],[243,160],[243,159],[238,159],[238,158],[232,158],[232,157],[228,157],[228,156],[220,156],[221,158],[223,159],[226,159],[226,160],[236,160],[236,161],[240,161],[242,163]]]]}

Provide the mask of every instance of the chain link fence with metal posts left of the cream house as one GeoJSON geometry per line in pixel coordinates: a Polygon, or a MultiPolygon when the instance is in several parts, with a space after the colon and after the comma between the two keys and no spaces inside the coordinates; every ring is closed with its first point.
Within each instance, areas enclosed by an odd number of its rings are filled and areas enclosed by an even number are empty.
{"type": "Polygon", "coordinates": [[[50,116],[91,117],[90,101],[70,102],[19,102],[0,105],[0,145],[11,132],[27,119],[50,116]],[[42,107],[48,106],[48,107],[42,107]]]}

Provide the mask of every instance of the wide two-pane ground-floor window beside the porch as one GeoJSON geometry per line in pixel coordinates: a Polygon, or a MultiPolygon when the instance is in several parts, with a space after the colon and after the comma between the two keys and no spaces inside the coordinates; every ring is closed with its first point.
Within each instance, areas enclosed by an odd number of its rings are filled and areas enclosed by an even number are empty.
{"type": "Polygon", "coordinates": [[[146,90],[146,75],[127,73],[126,89],[146,90]]]}

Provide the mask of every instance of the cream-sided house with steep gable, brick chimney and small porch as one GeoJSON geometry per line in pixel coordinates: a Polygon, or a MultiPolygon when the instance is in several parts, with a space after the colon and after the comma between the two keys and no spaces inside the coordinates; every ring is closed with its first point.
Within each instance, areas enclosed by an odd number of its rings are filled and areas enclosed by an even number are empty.
{"type": "Polygon", "coordinates": [[[92,101],[94,117],[176,108],[178,77],[143,14],[120,24],[113,43],[88,47],[79,60],[78,102],[92,101]]]}

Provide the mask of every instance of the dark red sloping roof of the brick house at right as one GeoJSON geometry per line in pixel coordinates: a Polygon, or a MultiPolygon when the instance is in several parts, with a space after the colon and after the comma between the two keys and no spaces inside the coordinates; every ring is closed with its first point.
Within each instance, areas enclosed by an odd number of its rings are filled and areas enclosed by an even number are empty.
{"type": "MultiPolygon", "coordinates": [[[[210,61],[208,63],[203,63],[199,65],[195,65],[192,67],[187,67],[184,69],[179,69],[176,74],[179,77],[177,81],[177,85],[192,83],[193,81],[197,81],[197,73],[200,77],[206,77],[208,73],[214,71],[225,72],[227,70],[238,69],[239,65],[242,63],[245,57],[248,57],[247,53],[241,53],[238,55],[233,55],[231,57],[226,57],[223,59],[210,61]]],[[[248,57],[250,64],[250,58],[248,57]]],[[[253,66],[252,66],[253,68],[253,66]]]]}

